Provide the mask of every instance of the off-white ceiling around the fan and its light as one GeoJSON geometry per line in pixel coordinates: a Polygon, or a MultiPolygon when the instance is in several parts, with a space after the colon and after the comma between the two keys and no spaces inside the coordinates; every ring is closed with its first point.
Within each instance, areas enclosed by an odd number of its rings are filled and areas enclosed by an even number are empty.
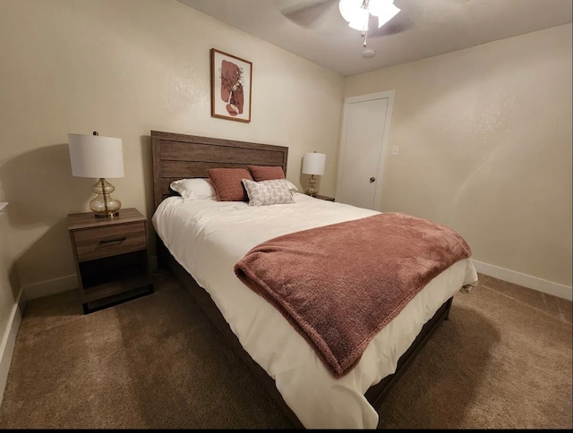
{"type": "Polygon", "coordinates": [[[394,0],[402,11],[381,30],[406,30],[371,32],[367,47],[376,54],[364,58],[363,38],[338,13],[338,0],[178,1],[344,76],[559,26],[573,14],[571,0],[394,0]]]}

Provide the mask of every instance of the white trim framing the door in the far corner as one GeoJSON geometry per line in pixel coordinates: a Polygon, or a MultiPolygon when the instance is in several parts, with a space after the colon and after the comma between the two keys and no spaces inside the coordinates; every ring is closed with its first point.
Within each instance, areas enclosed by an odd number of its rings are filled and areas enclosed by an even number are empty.
{"type": "Polygon", "coordinates": [[[396,90],[385,90],[377,93],[369,93],[367,95],[359,95],[356,97],[349,97],[344,99],[343,112],[342,112],[342,131],[340,132],[340,153],[338,156],[338,180],[337,180],[337,195],[342,184],[343,177],[343,164],[344,157],[346,156],[346,132],[347,132],[347,119],[348,106],[356,102],[372,101],[374,99],[388,98],[388,106],[386,108],[386,119],[384,123],[384,132],[382,134],[382,142],[380,149],[380,156],[378,161],[378,173],[376,174],[376,187],[374,188],[374,208],[381,210],[382,201],[382,184],[384,183],[384,167],[386,166],[386,155],[388,150],[388,141],[390,135],[390,123],[392,120],[392,108],[394,106],[394,94],[396,90]]]}

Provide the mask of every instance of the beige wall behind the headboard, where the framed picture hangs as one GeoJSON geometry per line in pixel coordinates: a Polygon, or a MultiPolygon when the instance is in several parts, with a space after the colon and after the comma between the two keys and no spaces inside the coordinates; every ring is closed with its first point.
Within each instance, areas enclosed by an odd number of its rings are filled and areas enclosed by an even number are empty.
{"type": "Polygon", "coordinates": [[[0,0],[0,40],[0,185],[25,287],[75,274],[66,215],[95,180],[72,176],[68,132],[123,140],[115,196],[147,216],[151,130],[288,146],[298,186],[304,152],[324,152],[335,191],[343,78],[175,0],[0,0]],[[251,123],[210,117],[211,47],[252,62],[251,123]]]}

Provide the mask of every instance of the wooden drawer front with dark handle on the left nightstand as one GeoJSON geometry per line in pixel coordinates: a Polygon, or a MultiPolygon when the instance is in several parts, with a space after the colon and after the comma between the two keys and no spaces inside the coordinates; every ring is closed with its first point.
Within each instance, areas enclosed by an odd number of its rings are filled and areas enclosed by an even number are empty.
{"type": "Polygon", "coordinates": [[[73,233],[73,241],[78,261],[147,248],[144,223],[80,230],[73,233]]]}

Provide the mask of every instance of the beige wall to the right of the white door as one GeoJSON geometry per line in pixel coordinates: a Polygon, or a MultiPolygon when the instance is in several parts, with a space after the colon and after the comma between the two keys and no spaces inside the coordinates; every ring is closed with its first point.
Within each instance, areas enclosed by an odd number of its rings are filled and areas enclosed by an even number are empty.
{"type": "Polygon", "coordinates": [[[570,287],[571,51],[568,24],[348,78],[345,97],[396,90],[382,210],[570,287]]]}

